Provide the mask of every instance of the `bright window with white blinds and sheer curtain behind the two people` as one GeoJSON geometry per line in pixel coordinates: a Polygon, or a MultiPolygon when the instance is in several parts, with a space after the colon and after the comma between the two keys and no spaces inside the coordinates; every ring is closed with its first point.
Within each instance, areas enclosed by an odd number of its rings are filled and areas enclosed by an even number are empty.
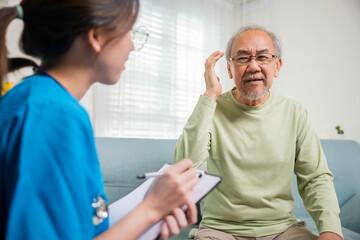
{"type": "MultiPolygon", "coordinates": [[[[205,90],[204,62],[225,50],[239,8],[237,0],[141,0],[136,25],[149,28],[148,42],[118,84],[94,86],[95,135],[178,138],[205,90]]],[[[216,71],[229,88],[225,59],[216,71]]]]}

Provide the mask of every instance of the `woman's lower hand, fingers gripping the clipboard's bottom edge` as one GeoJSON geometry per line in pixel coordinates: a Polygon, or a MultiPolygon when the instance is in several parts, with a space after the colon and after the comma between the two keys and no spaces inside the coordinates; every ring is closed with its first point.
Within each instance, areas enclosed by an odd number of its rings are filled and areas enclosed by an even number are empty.
{"type": "Polygon", "coordinates": [[[174,209],[171,215],[164,218],[164,223],[161,225],[161,232],[159,240],[166,240],[169,237],[176,236],[180,231],[189,225],[197,222],[197,209],[194,203],[187,203],[187,213],[180,208],[174,209]]]}

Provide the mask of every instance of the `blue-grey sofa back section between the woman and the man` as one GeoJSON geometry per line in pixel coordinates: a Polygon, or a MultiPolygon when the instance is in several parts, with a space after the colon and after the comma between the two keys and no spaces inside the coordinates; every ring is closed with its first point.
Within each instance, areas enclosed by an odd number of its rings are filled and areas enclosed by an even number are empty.
{"type": "Polygon", "coordinates": [[[112,203],[143,181],[138,174],[153,172],[173,163],[176,140],[96,138],[105,193],[112,203]]]}

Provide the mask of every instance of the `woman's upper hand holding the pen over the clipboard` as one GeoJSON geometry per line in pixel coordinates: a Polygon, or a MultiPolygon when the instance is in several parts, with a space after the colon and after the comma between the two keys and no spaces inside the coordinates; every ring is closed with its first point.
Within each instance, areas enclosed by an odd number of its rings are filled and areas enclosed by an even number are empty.
{"type": "Polygon", "coordinates": [[[144,204],[160,220],[172,214],[176,208],[192,205],[188,199],[198,182],[199,177],[192,167],[192,161],[184,159],[170,165],[163,175],[157,177],[146,194],[144,204]]]}

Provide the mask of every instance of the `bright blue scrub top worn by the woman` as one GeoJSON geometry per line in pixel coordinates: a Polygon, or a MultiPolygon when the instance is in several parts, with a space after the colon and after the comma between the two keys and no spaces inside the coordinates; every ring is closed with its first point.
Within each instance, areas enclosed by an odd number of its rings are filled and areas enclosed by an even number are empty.
{"type": "Polygon", "coordinates": [[[0,239],[92,239],[106,199],[86,111],[50,76],[0,98],[0,239]]]}

